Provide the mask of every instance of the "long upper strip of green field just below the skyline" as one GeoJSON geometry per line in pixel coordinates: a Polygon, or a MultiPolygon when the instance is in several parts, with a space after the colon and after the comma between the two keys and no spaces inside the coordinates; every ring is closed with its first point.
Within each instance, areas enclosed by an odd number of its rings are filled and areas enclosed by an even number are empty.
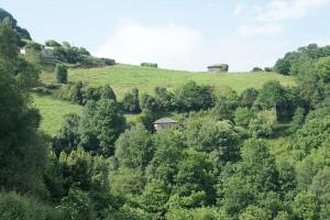
{"type": "Polygon", "coordinates": [[[174,89],[188,80],[194,80],[201,85],[230,86],[240,92],[250,87],[260,88],[265,81],[272,79],[279,80],[284,86],[294,85],[292,77],[264,72],[191,73],[123,64],[106,68],[73,69],[69,72],[70,81],[81,80],[91,87],[110,84],[119,98],[134,87],[139,88],[141,94],[151,94],[155,87],[174,89]]]}

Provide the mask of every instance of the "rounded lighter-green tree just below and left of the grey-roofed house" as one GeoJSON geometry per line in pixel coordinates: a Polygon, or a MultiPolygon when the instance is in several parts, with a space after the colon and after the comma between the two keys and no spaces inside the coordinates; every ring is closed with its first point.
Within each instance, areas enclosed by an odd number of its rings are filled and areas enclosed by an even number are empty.
{"type": "Polygon", "coordinates": [[[116,157],[127,167],[144,168],[152,160],[154,146],[151,134],[142,124],[127,130],[116,142],[116,157]]]}

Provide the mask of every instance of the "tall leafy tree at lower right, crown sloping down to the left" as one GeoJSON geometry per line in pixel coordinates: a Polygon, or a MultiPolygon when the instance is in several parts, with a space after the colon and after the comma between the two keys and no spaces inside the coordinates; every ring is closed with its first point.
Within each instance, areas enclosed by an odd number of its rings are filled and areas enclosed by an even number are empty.
{"type": "Polygon", "coordinates": [[[238,215],[257,200],[262,193],[278,190],[278,172],[275,158],[265,141],[248,140],[241,150],[242,161],[233,175],[224,178],[220,194],[221,204],[231,215],[238,215]]]}

